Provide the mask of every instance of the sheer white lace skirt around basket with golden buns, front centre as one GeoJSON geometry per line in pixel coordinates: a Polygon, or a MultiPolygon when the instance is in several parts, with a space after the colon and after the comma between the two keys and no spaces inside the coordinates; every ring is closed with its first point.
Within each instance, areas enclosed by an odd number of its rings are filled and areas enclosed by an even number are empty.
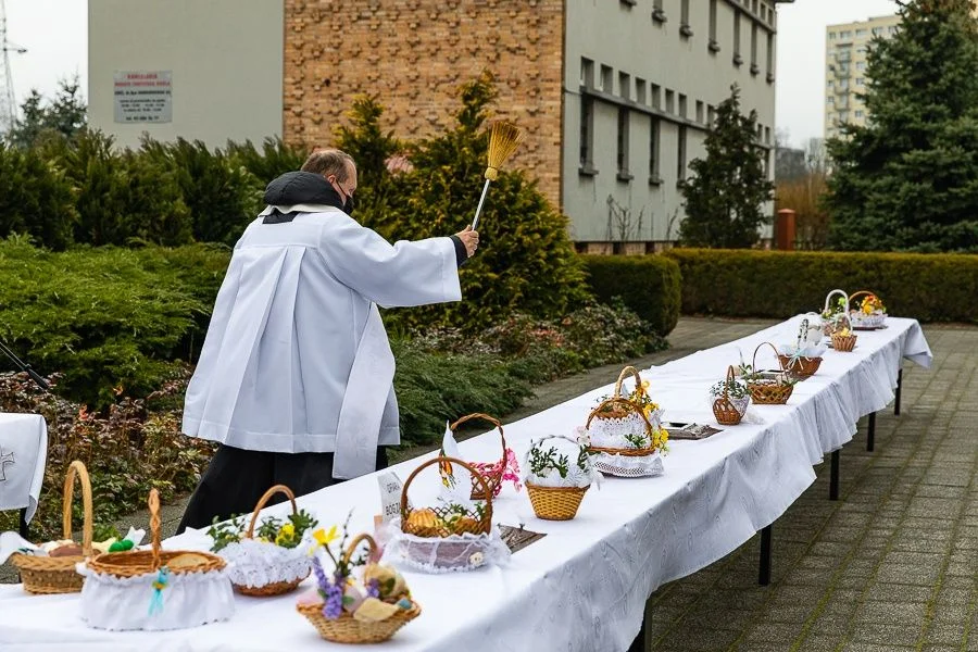
{"type": "Polygon", "coordinates": [[[417,537],[401,531],[400,518],[390,523],[391,536],[384,549],[381,563],[394,564],[424,573],[454,573],[474,570],[487,564],[505,564],[510,549],[499,528],[490,532],[451,535],[449,537],[417,537]]]}

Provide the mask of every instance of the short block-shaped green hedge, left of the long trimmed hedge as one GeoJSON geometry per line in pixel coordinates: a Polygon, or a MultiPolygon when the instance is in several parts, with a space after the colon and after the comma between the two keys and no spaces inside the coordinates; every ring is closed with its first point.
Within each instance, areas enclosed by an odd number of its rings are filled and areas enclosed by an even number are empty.
{"type": "Polygon", "coordinates": [[[626,306],[666,336],[679,321],[680,274],[675,261],[661,255],[581,256],[588,283],[603,303],[619,297],[626,306]]]}

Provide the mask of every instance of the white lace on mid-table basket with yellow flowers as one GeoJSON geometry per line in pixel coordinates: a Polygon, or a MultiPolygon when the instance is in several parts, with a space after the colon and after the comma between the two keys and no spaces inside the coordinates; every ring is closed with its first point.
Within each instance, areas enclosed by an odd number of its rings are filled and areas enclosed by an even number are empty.
{"type": "MultiPolygon", "coordinates": [[[[662,427],[662,409],[648,415],[652,431],[662,427]]],[[[619,418],[604,418],[595,415],[588,426],[591,446],[607,449],[632,449],[635,446],[625,438],[626,435],[645,435],[645,421],[635,412],[619,418]]],[[[619,455],[609,452],[597,452],[592,457],[594,467],[605,475],[625,478],[638,478],[662,475],[665,468],[662,454],[655,451],[651,455],[619,455]]]]}

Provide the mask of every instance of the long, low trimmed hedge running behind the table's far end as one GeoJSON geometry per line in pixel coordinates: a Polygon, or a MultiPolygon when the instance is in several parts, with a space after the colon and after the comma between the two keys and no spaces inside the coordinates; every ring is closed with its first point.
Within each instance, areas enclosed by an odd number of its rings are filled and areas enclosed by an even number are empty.
{"type": "Polygon", "coordinates": [[[820,311],[833,288],[872,290],[894,316],[978,322],[978,256],[673,249],[682,313],[785,317],[820,311]]]}

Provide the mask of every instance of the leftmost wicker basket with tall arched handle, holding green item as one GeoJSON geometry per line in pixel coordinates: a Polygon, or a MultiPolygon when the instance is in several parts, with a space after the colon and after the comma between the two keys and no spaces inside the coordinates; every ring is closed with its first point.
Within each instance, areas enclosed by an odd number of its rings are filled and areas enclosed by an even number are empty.
{"type": "Polygon", "coordinates": [[[75,476],[82,484],[82,554],[72,556],[34,556],[15,553],[11,563],[17,567],[24,580],[24,589],[32,593],[77,593],[85,578],[75,570],[75,564],[91,556],[91,480],[85,464],[75,460],[64,476],[64,498],[61,503],[62,527],[65,539],[72,538],[72,499],[75,476]]]}

